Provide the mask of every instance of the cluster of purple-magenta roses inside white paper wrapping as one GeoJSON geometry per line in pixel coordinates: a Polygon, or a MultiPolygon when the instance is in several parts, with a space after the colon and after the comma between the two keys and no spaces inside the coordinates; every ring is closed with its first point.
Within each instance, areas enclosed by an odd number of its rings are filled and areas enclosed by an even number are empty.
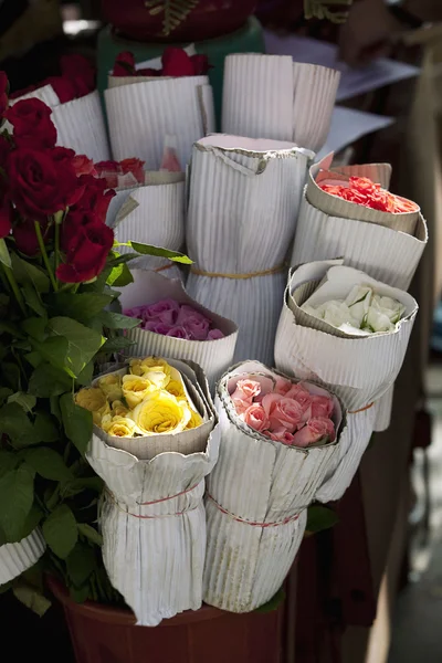
{"type": "Polygon", "coordinates": [[[217,340],[224,335],[213,327],[206,315],[188,304],[179,304],[176,299],[160,299],[155,304],[135,306],[124,312],[129,317],[143,322],[141,329],[172,336],[186,340],[217,340]]]}

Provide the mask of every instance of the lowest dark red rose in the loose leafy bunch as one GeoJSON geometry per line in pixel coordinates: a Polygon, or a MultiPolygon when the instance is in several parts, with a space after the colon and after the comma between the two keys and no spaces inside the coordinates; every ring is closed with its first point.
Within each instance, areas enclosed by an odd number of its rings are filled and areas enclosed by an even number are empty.
{"type": "Polygon", "coordinates": [[[63,244],[67,244],[66,264],[56,270],[57,278],[64,283],[84,283],[103,271],[114,244],[114,231],[102,221],[88,219],[63,244]]]}

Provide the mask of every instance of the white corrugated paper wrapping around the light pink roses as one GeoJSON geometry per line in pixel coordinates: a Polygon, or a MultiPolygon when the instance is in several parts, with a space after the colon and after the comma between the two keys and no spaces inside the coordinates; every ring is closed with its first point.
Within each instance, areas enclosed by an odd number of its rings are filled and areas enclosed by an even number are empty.
{"type": "MultiPolygon", "coordinates": [[[[221,443],[208,478],[203,599],[232,612],[254,610],[282,586],[303,538],[304,509],[340,444],[338,438],[332,444],[298,449],[249,429],[235,417],[228,390],[231,378],[242,373],[274,375],[257,361],[246,361],[218,385],[221,443]]],[[[324,393],[314,385],[307,388],[324,393]]],[[[337,399],[335,411],[339,428],[337,399]]]]}

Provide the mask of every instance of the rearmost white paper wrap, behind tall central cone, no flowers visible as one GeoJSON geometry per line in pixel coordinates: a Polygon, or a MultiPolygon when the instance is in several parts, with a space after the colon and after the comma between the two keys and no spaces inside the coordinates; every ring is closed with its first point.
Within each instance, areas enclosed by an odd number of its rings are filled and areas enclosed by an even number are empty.
{"type": "Polygon", "coordinates": [[[339,72],[288,55],[235,53],[224,65],[222,130],[292,140],[318,151],[327,138],[339,72]]]}

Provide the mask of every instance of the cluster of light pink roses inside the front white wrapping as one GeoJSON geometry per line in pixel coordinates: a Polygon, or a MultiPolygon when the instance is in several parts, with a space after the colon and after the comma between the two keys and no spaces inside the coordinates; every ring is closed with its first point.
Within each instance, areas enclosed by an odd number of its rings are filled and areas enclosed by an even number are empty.
{"type": "Polygon", "coordinates": [[[244,423],[275,442],[308,446],[335,440],[332,398],[311,393],[302,382],[276,378],[273,391],[264,392],[257,380],[244,376],[231,399],[244,423]]]}

